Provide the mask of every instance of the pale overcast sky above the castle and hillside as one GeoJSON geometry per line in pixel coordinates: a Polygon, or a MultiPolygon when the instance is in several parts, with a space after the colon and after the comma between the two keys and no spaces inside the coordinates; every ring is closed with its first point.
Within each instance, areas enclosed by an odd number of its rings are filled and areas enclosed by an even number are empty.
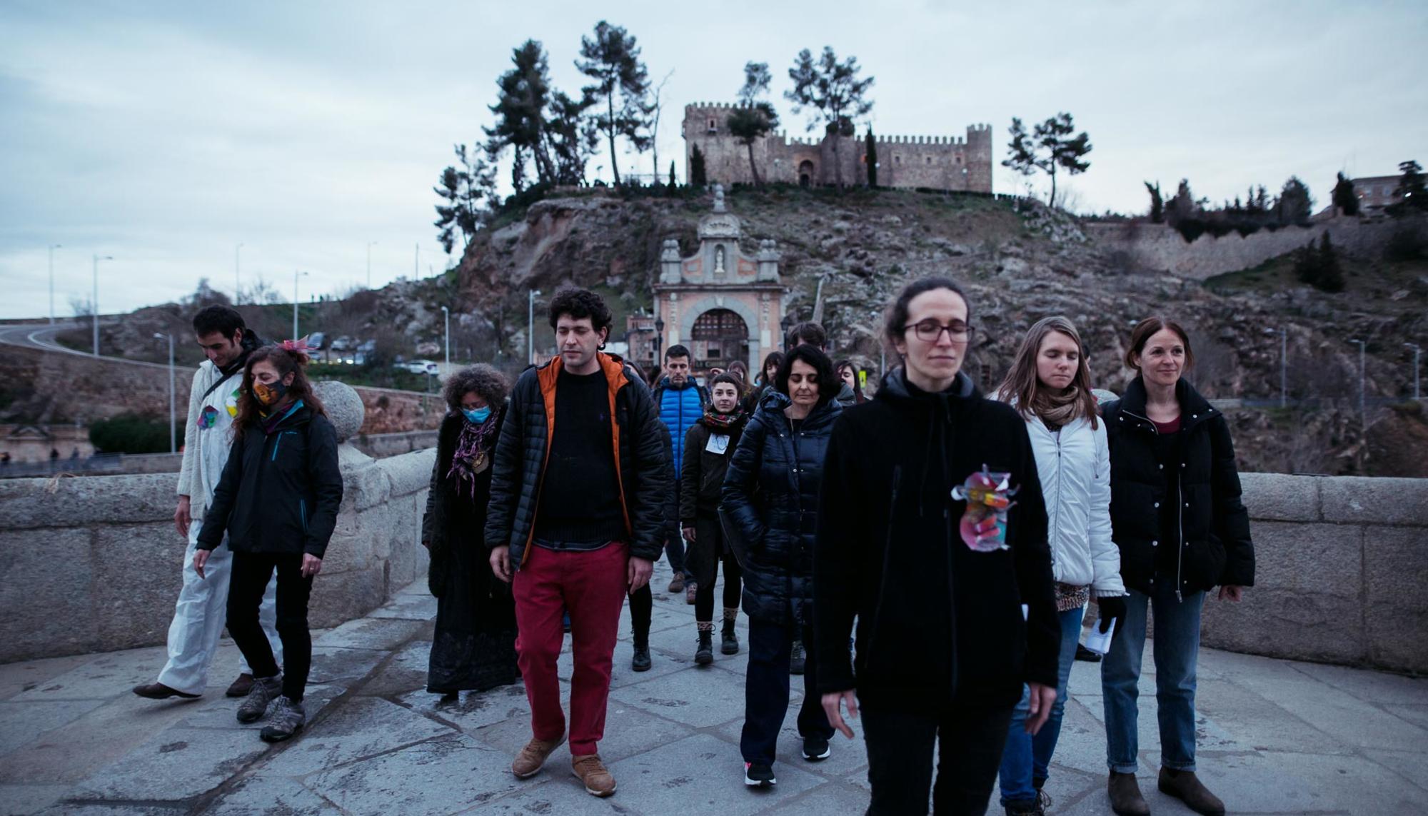
{"type": "MultiPolygon", "coordinates": [[[[0,317],[89,295],[104,312],[257,275],[291,297],[381,285],[448,262],[431,185],[481,138],[511,49],[537,39],[557,87],[580,36],[625,26],[673,103],[731,100],[748,60],[781,93],[800,49],[831,44],[875,77],[883,134],[962,136],[1070,111],[1090,131],[1080,211],[1142,211],[1142,180],[1232,198],[1291,174],[1325,204],[1334,174],[1428,163],[1428,4],[998,3],[51,3],[0,0],[0,317]],[[991,6],[995,6],[992,9],[991,6]]],[[[860,131],[863,128],[860,127],[860,131]]],[[[648,154],[621,155],[621,168],[648,154]]],[[[604,165],[608,153],[591,168],[604,165]]],[[[998,165],[998,191],[1017,180],[998,165]]]]}

